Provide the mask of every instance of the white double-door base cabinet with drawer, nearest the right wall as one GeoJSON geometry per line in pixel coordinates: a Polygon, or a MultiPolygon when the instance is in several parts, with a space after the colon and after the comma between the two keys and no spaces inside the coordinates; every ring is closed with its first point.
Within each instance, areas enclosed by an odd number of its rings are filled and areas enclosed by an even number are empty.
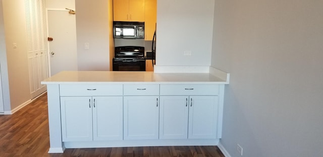
{"type": "Polygon", "coordinates": [[[159,138],[221,138],[217,137],[219,89],[219,85],[161,84],[159,138]]]}

